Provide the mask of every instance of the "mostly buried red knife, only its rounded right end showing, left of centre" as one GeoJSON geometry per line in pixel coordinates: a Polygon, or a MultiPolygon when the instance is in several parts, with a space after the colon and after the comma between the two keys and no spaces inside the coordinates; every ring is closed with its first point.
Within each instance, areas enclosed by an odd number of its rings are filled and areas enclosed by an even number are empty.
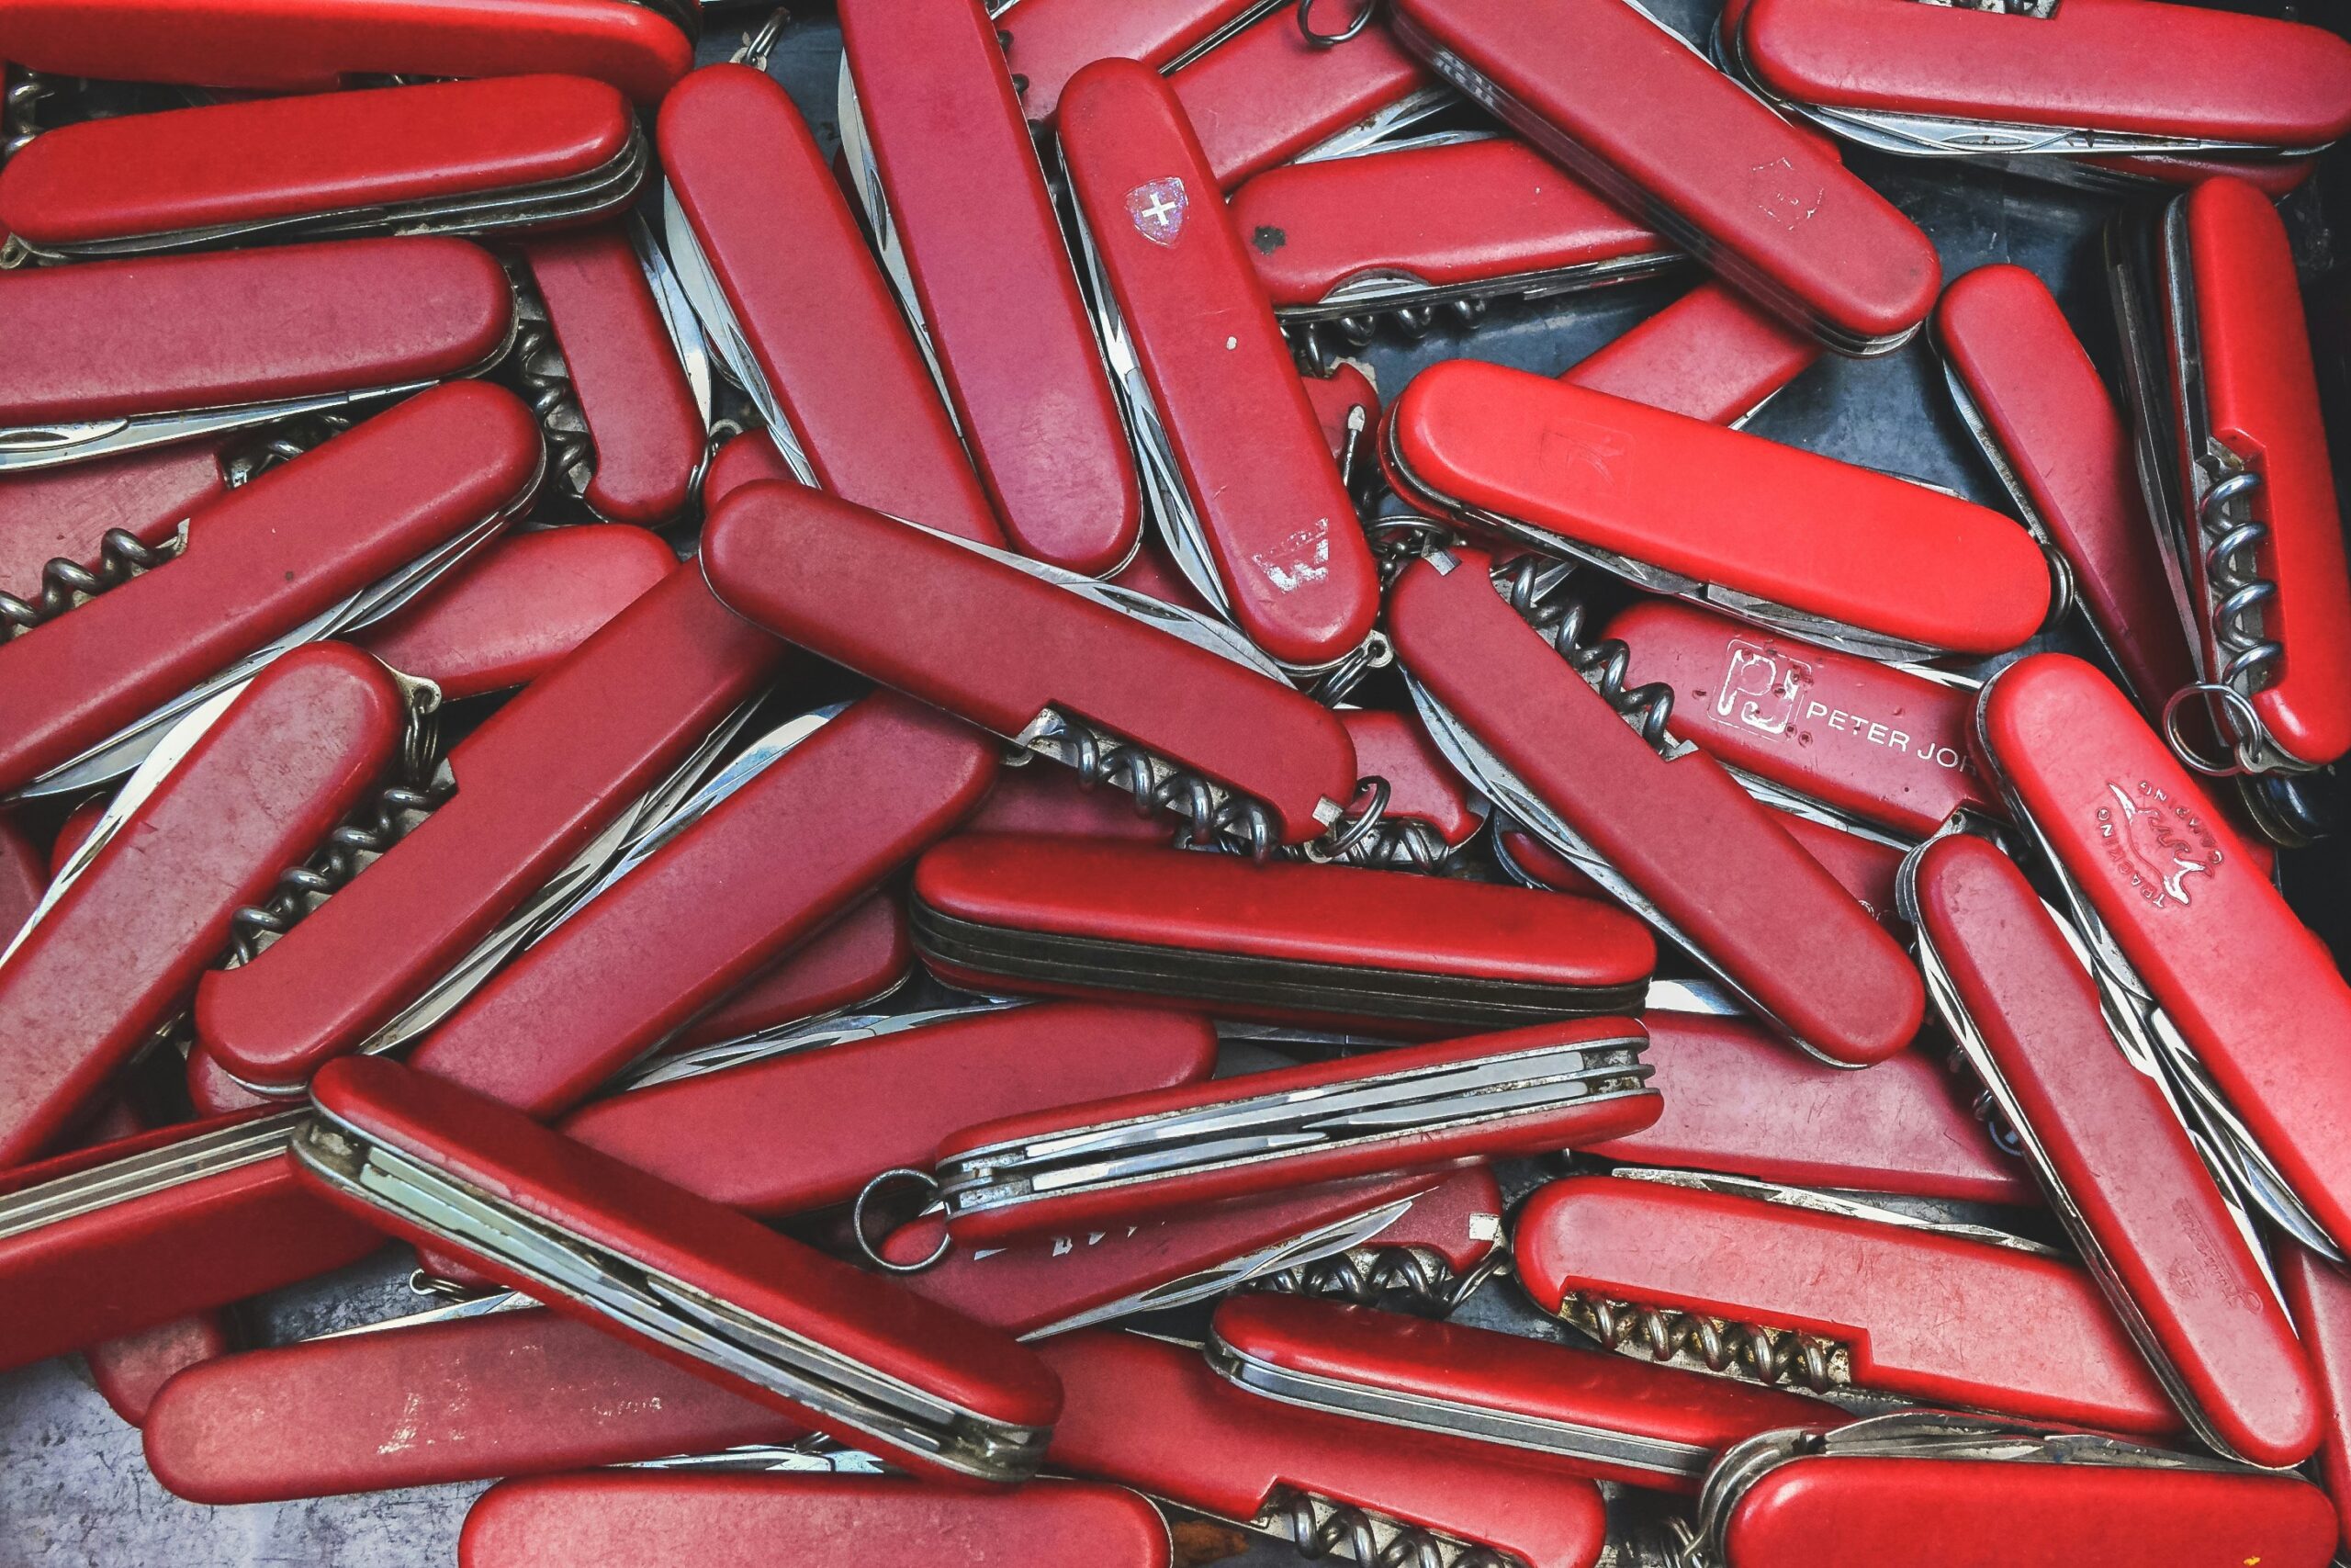
{"type": "Polygon", "coordinates": [[[355,642],[456,703],[538,679],[672,571],[644,529],[513,534],[355,642]]]}

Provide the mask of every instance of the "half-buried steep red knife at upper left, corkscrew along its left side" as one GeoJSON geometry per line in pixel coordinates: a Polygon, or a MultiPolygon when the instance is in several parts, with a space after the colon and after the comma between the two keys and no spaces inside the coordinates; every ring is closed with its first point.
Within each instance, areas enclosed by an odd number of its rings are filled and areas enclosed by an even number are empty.
{"type": "Polygon", "coordinates": [[[592,517],[675,524],[708,461],[710,346],[654,230],[536,235],[517,284],[515,367],[557,482],[592,517]]]}

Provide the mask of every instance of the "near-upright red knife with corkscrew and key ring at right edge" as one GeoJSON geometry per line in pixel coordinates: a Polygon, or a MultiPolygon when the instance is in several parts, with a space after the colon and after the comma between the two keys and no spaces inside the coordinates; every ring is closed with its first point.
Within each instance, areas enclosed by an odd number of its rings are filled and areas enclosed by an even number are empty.
{"type": "Polygon", "coordinates": [[[2351,574],[2285,226],[2259,190],[2217,179],[2118,226],[2109,261],[2139,475],[2198,670],[2161,693],[2165,733],[2198,771],[2255,776],[2264,830],[2297,842],[2292,776],[2351,750],[2335,677],[2351,661],[2351,574]],[[2205,698],[2222,759],[2179,733],[2189,696],[2205,698]]]}

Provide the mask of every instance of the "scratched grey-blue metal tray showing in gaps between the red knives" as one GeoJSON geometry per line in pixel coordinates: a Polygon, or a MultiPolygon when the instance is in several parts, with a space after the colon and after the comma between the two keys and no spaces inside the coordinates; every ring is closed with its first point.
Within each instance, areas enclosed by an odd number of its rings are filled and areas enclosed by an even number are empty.
{"type": "MultiPolygon", "coordinates": [[[[1693,38],[1712,28],[1719,7],[1719,0],[1646,2],[1693,38]]],[[[703,40],[703,61],[734,52],[743,14],[736,7],[712,26],[703,40]]],[[[825,150],[832,150],[839,31],[830,16],[795,24],[771,68],[818,129],[825,150]]],[[[2015,261],[2038,273],[2083,334],[2090,355],[2114,376],[2114,324],[2097,247],[2099,226],[2114,209],[2111,197],[1975,169],[1925,169],[1857,150],[1848,150],[1848,160],[1933,235],[1949,277],[1994,261],[2015,261]]],[[[2351,158],[2342,153],[2330,155],[2313,188],[2285,207],[2304,263],[2304,289],[2320,313],[2335,303],[2327,296],[2337,284],[2335,214],[2342,209],[2337,193],[2346,162],[2351,158]]],[[[1686,287],[1688,275],[1540,306],[1502,306],[1474,331],[1432,331],[1418,343],[1382,336],[1361,357],[1389,395],[1422,364],[1462,355],[1559,374],[1686,287]]],[[[2344,331],[2332,334],[2332,341],[2320,339],[2323,374],[2344,357],[2337,343],[2346,341],[2351,334],[2344,331]]],[[[2330,393],[2339,393],[2339,386],[2330,393]]],[[[2337,430],[2339,409],[2342,404],[2337,430]]],[[[1881,360],[1820,362],[1749,428],[1827,456],[1933,480],[1994,508],[2005,505],[1949,407],[1942,371],[1923,339],[1881,360]]],[[[2351,473],[2342,454],[2337,465],[2351,473]]],[[[2351,863],[2342,846],[2285,858],[2288,893],[2337,954],[2351,947],[2351,900],[2339,891],[2351,886],[2346,870],[2351,863]]],[[[1533,1166],[1505,1171],[1512,1197],[1533,1180],[1533,1166]]],[[[407,1291],[407,1267],[402,1253],[386,1251],[336,1276],[254,1302],[245,1326],[261,1342],[284,1342],[414,1312],[418,1302],[407,1291]]],[[[1545,1321],[1509,1286],[1483,1291],[1465,1307],[1462,1321],[1547,1333],[1545,1321]]],[[[0,1568],[426,1568],[456,1561],[458,1526],[480,1490],[442,1486],[289,1505],[195,1507],[155,1486],[139,1453],[139,1434],[115,1420],[75,1361],[45,1361],[0,1375],[0,1568]]],[[[1300,1559],[1288,1547],[1260,1542],[1246,1556],[1227,1561],[1237,1568],[1272,1568],[1300,1559]]]]}

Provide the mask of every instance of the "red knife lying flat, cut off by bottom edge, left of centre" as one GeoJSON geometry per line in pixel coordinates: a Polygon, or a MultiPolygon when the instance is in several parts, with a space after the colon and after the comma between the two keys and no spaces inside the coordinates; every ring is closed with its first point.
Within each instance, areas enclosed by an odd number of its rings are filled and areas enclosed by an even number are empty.
{"type": "Polygon", "coordinates": [[[987,1497],[898,1476],[548,1476],[465,1514],[458,1568],[712,1561],[743,1542],[806,1568],[1166,1568],[1168,1526],[1117,1486],[1039,1481],[987,1497]]]}

